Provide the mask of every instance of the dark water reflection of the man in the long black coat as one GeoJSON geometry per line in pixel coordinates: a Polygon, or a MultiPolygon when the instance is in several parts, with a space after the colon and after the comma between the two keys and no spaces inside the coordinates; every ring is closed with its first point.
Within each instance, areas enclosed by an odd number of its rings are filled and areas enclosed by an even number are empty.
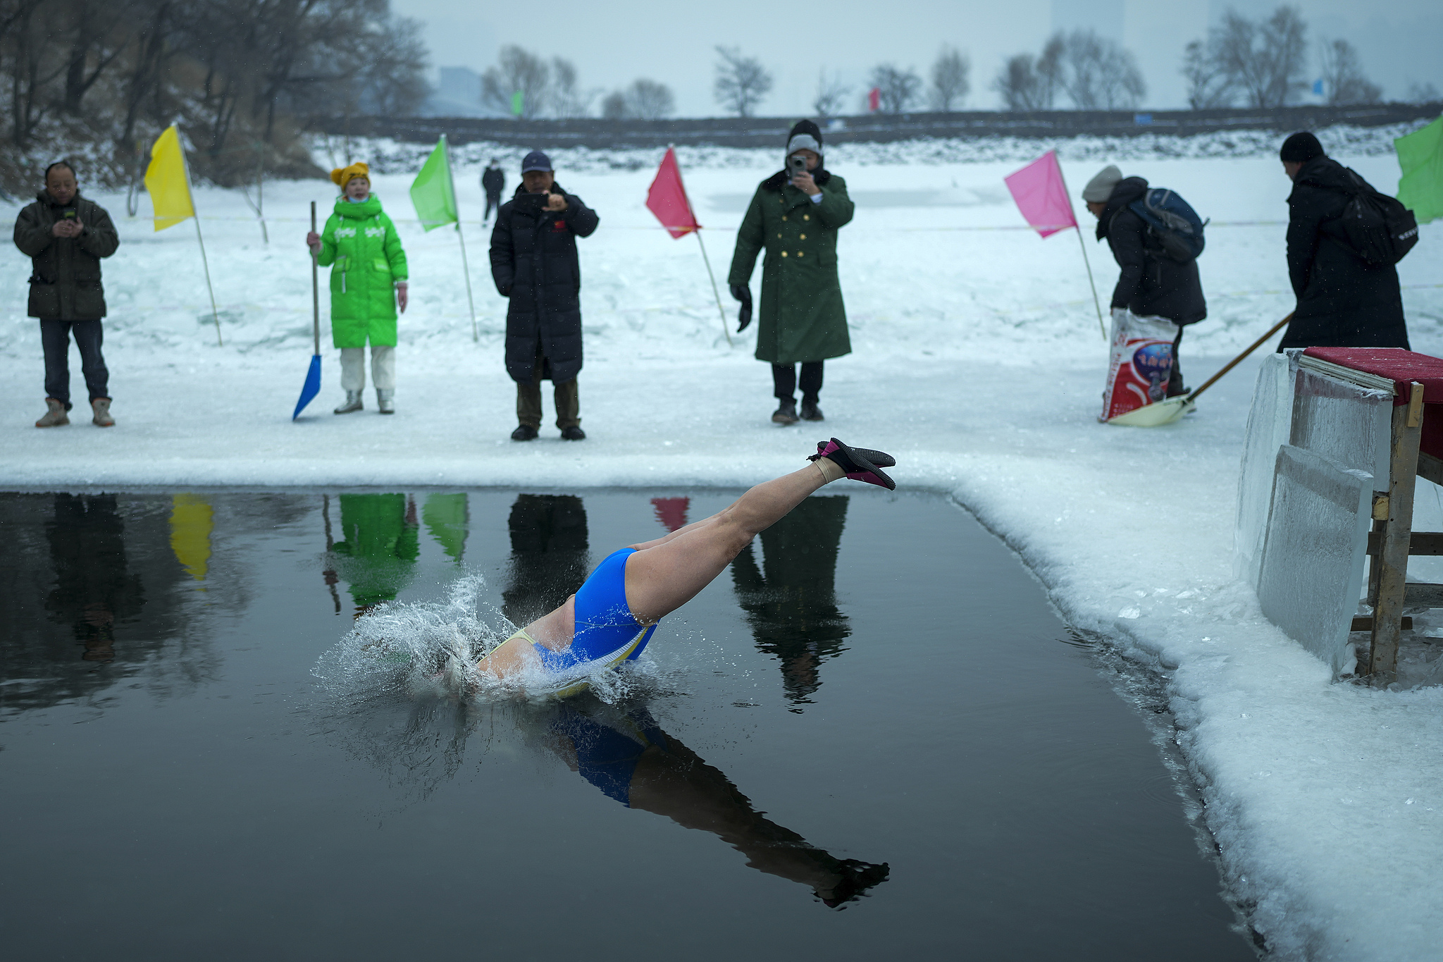
{"type": "Polygon", "coordinates": [[[586,581],[586,506],[576,495],[518,495],[506,526],[511,570],[502,613],[512,625],[525,625],[586,581]]]}

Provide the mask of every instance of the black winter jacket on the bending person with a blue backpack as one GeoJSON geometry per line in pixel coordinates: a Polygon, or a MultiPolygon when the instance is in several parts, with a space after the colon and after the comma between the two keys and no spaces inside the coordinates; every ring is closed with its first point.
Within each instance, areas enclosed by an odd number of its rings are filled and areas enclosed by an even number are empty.
{"type": "Polygon", "coordinates": [[[1175,261],[1149,238],[1147,222],[1127,206],[1146,192],[1141,177],[1118,182],[1097,221],[1097,239],[1107,238],[1123,271],[1113,288],[1113,307],[1126,307],[1139,317],[1166,317],[1175,325],[1196,323],[1208,316],[1198,261],[1175,261]]]}

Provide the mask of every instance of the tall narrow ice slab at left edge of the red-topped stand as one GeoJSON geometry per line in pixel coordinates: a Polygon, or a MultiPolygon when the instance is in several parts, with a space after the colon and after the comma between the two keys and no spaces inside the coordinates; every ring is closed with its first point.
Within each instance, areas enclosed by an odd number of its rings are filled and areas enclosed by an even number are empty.
{"type": "Polygon", "coordinates": [[[1293,381],[1297,352],[1268,355],[1258,369],[1253,408],[1242,436],[1238,470],[1238,513],[1232,525],[1232,573],[1254,588],[1263,561],[1267,512],[1273,500],[1277,449],[1287,444],[1293,423],[1293,381]]]}

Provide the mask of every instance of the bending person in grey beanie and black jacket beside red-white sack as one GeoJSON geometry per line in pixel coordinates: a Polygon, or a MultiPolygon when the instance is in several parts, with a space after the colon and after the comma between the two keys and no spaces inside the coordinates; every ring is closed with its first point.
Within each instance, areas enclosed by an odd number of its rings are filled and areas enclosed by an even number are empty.
{"type": "Polygon", "coordinates": [[[1147,180],[1123,177],[1123,172],[1113,164],[1102,167],[1082,189],[1082,200],[1097,218],[1097,239],[1107,238],[1113,260],[1121,268],[1117,287],[1113,288],[1113,309],[1126,309],[1139,317],[1162,317],[1177,325],[1172,378],[1167,382],[1167,397],[1172,398],[1188,392],[1177,365],[1182,332],[1208,316],[1208,303],[1202,297],[1198,260],[1179,261],[1169,255],[1147,221],[1134,209],[1133,205],[1140,205],[1146,195],[1147,180]]]}

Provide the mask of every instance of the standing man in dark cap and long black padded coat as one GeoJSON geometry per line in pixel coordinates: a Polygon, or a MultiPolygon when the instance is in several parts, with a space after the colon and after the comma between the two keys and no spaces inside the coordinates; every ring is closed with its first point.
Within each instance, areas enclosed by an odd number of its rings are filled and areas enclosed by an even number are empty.
{"type": "Polygon", "coordinates": [[[551,160],[532,150],[521,185],[491,231],[491,277],[506,307],[506,374],[517,382],[514,441],[541,427],[541,381],[551,381],[556,425],[567,441],[582,430],[576,375],[582,371],[582,267],[576,238],[596,231],[596,212],[556,183],[551,160]]]}

